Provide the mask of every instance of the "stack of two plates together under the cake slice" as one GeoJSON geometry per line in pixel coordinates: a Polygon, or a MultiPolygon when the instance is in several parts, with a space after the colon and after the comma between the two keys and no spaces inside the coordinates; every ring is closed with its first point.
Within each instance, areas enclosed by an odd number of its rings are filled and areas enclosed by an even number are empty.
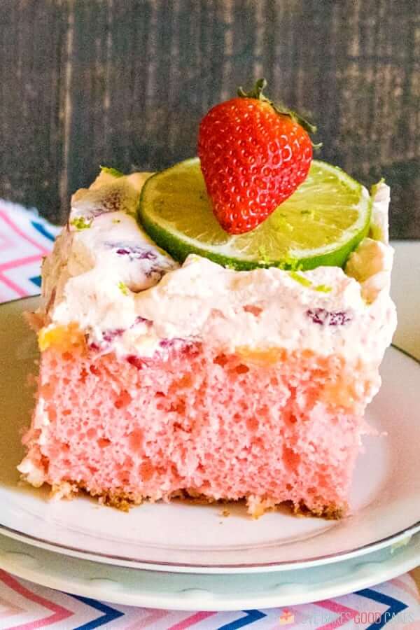
{"type": "Polygon", "coordinates": [[[27,374],[36,357],[22,311],[0,307],[0,567],[106,601],[180,610],[293,605],[382,582],[420,564],[420,365],[391,348],[342,521],[287,510],[253,521],[242,505],[145,504],[130,513],[87,497],[50,501],[18,484],[27,374]],[[417,533],[419,532],[419,533],[417,533]]]}

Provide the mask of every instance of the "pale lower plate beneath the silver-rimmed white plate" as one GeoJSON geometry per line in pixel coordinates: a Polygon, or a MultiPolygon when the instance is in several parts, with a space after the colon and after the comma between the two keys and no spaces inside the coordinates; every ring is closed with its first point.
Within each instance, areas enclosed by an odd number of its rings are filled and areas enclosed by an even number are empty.
{"type": "Polygon", "coordinates": [[[251,573],[162,573],[69,558],[0,535],[0,568],[36,584],[120,605],[165,610],[249,610],[338,597],[391,580],[420,563],[420,533],[328,566],[251,573]]]}

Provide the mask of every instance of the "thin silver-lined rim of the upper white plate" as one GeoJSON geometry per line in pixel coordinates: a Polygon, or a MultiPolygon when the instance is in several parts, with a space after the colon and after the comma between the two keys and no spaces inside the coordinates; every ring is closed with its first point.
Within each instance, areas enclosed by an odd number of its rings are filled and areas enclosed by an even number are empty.
{"type": "MultiPolygon", "coordinates": [[[[0,311],[3,307],[8,304],[12,304],[15,302],[27,302],[29,300],[35,300],[39,298],[40,294],[31,295],[27,297],[20,297],[15,300],[9,300],[8,302],[2,302],[0,304],[0,311]]],[[[1,316],[1,313],[0,313],[1,316]]],[[[391,344],[391,346],[397,352],[402,353],[407,356],[407,358],[414,361],[414,364],[420,367],[420,360],[414,357],[408,351],[400,348],[395,344],[391,344]]],[[[29,533],[23,533],[21,531],[16,530],[15,528],[10,528],[5,526],[0,521],[0,534],[6,535],[8,538],[12,538],[13,540],[18,540],[19,542],[29,544],[34,547],[38,547],[40,549],[46,549],[49,552],[59,553],[65,556],[96,561],[107,566],[119,566],[125,568],[136,568],[143,570],[154,570],[159,572],[173,572],[173,573],[268,573],[278,570],[297,570],[301,568],[313,568],[315,566],[327,565],[331,563],[337,563],[339,561],[346,561],[353,557],[357,557],[366,553],[375,552],[380,549],[385,549],[393,545],[395,542],[406,538],[408,535],[414,535],[420,531],[420,518],[416,520],[413,524],[403,528],[402,530],[389,534],[384,538],[380,538],[379,540],[374,540],[373,542],[367,542],[365,545],[361,545],[359,547],[354,547],[352,549],[347,549],[342,552],[335,552],[331,554],[323,554],[321,556],[311,556],[307,559],[297,559],[297,560],[288,560],[288,561],[273,561],[267,562],[264,561],[262,563],[229,563],[225,562],[221,563],[179,563],[179,562],[171,562],[171,561],[153,561],[153,560],[142,560],[142,559],[132,559],[127,556],[118,556],[116,554],[106,554],[103,552],[88,552],[84,549],[79,549],[78,547],[73,547],[71,545],[64,545],[59,542],[51,542],[49,540],[45,540],[43,538],[39,538],[38,536],[31,535],[29,533]]]]}

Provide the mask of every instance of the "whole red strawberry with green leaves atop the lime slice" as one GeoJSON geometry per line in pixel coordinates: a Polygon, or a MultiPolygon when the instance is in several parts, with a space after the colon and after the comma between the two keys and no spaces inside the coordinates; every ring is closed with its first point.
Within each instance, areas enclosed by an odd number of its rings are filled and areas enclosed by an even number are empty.
{"type": "Polygon", "coordinates": [[[213,211],[223,230],[257,227],[306,178],[312,160],[308,132],[316,127],[262,94],[251,92],[214,106],[200,123],[198,155],[213,211]]]}

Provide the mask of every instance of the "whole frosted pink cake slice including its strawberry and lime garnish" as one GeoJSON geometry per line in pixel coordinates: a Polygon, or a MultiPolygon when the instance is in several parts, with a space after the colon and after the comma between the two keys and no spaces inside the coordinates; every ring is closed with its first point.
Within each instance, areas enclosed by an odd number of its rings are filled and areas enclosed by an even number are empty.
{"type": "Polygon", "coordinates": [[[346,511],[395,329],[388,187],[312,162],[264,87],[207,113],[200,162],[73,195],[31,316],[30,484],[346,511]]]}

